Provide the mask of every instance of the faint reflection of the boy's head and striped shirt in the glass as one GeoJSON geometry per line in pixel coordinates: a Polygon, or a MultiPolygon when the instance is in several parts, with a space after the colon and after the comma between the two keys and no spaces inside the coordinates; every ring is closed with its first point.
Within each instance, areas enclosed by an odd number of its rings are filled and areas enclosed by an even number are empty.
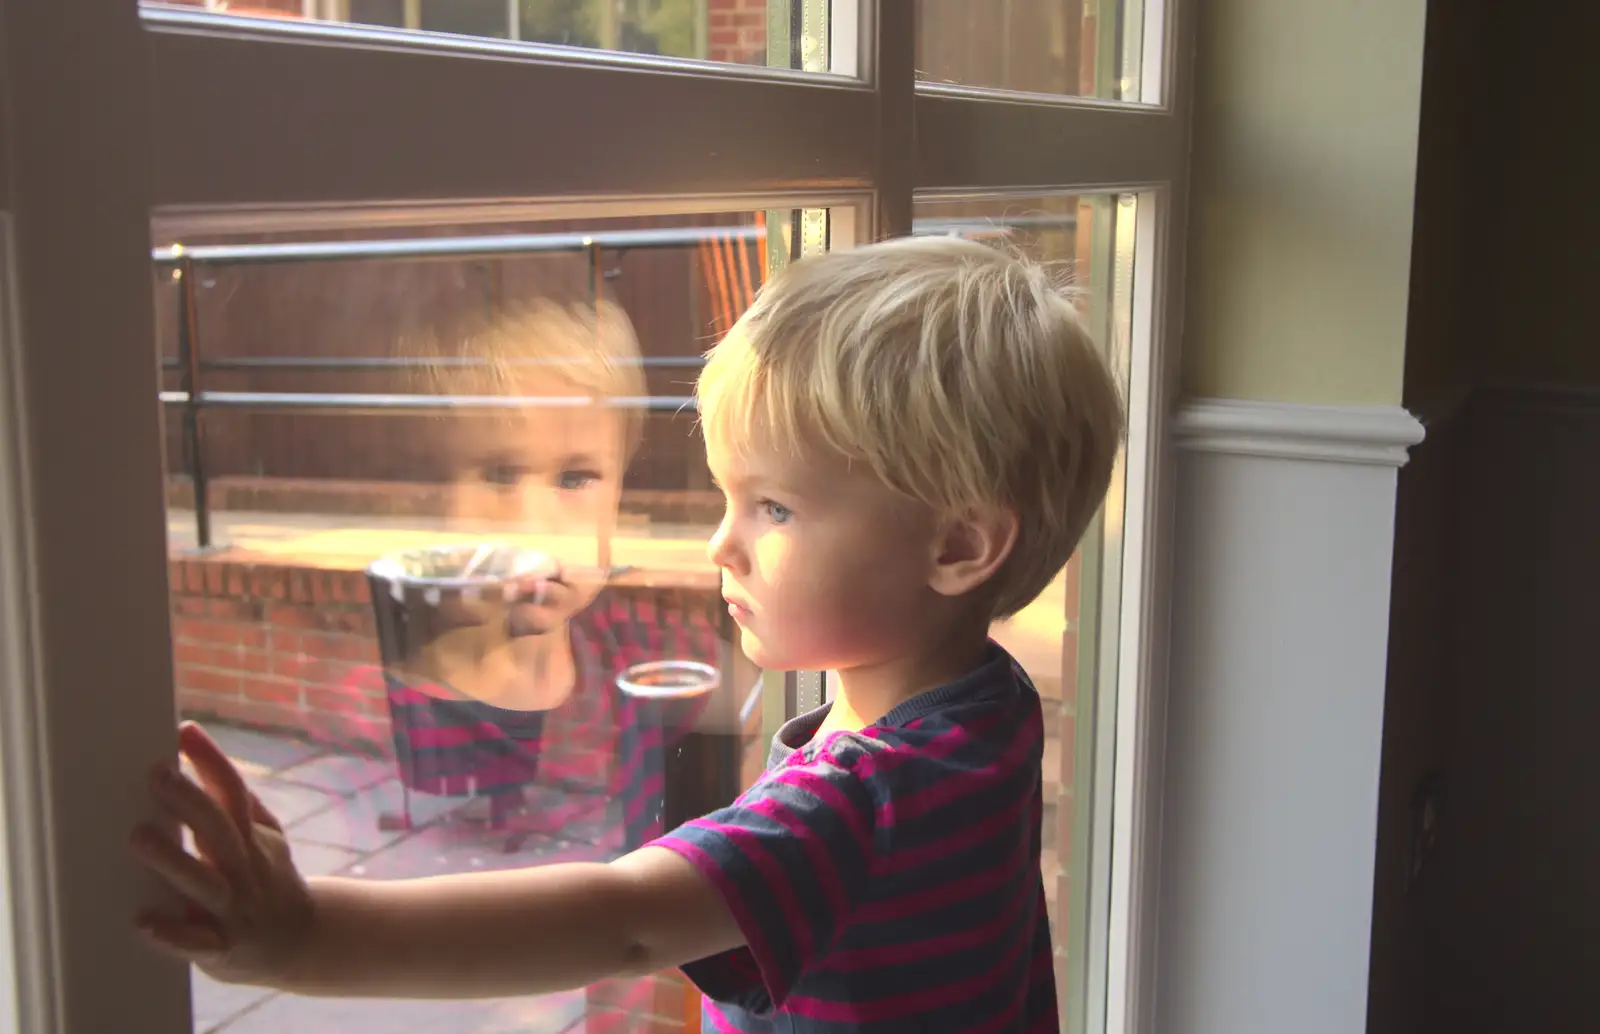
{"type": "MultiPolygon", "coordinates": [[[[638,447],[645,395],[638,343],[611,304],[542,303],[446,357],[430,386],[480,400],[538,399],[453,416],[459,477],[454,531],[526,546],[536,557],[504,602],[445,597],[443,627],[386,677],[402,776],[429,794],[486,799],[494,824],[534,783],[616,802],[600,842],[634,848],[662,831],[664,751],[709,698],[637,699],[629,666],[691,659],[725,671],[720,600],[662,608],[606,587],[622,474],[638,447]]],[[[685,594],[678,594],[680,597],[685,594]]],[[[720,802],[707,802],[712,807],[720,802]]],[[[558,831],[581,805],[533,805],[518,826],[558,831]]]]}

